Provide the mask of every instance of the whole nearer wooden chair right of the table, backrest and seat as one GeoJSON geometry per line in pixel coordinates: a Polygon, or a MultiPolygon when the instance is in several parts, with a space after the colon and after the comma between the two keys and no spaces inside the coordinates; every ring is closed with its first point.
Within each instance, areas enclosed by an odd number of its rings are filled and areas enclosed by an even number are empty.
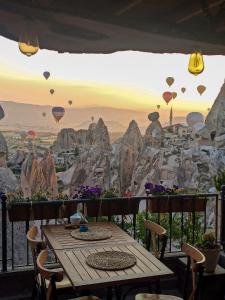
{"type": "MultiPolygon", "coordinates": [[[[185,278],[184,287],[184,300],[200,300],[201,299],[201,281],[204,271],[203,264],[205,262],[205,256],[195,247],[189,244],[183,244],[181,250],[187,255],[187,271],[185,278]],[[187,284],[188,278],[192,273],[192,292],[189,297],[187,297],[187,284]]],[[[170,295],[159,295],[159,294],[138,294],[135,300],[182,300],[179,297],[170,295]]],[[[203,299],[202,299],[203,300],[203,299]]]]}

